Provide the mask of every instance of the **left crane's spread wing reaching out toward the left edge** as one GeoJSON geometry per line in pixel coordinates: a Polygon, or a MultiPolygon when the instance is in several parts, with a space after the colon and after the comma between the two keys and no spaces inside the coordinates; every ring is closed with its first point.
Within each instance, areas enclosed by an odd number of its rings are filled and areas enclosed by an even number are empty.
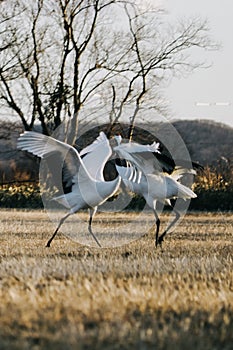
{"type": "Polygon", "coordinates": [[[91,179],[82,159],[77,150],[51,136],[46,136],[34,131],[25,131],[18,138],[17,148],[28,151],[40,158],[50,157],[52,155],[59,156],[63,163],[63,182],[71,185],[75,182],[75,178],[80,181],[91,179]]]}

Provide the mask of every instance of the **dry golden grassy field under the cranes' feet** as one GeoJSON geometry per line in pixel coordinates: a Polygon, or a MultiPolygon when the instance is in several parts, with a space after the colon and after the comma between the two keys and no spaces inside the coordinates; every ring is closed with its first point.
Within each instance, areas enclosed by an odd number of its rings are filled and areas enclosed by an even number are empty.
{"type": "MultiPolygon", "coordinates": [[[[120,237],[132,217],[99,214],[93,230],[120,237]]],[[[188,214],[162,250],[152,230],[117,248],[61,234],[45,248],[43,211],[1,211],[0,349],[233,349],[232,222],[188,214]]]]}

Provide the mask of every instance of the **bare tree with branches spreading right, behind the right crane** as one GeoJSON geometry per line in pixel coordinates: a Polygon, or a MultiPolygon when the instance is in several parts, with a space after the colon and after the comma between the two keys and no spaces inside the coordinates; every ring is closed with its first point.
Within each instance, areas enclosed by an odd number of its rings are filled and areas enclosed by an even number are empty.
{"type": "MultiPolygon", "coordinates": [[[[191,49],[216,49],[218,45],[208,37],[207,22],[190,18],[176,26],[160,28],[160,11],[138,13],[129,4],[124,5],[128,19],[130,40],[129,67],[126,69],[124,93],[118,99],[112,83],[112,125],[121,118],[125,106],[130,105],[130,127],[127,137],[133,136],[134,124],[139,110],[153,109],[166,113],[166,105],[160,104],[160,83],[175,74],[186,74],[205,67],[204,61],[192,60],[191,49]],[[113,117],[114,116],[114,117],[113,117]]],[[[118,69],[118,67],[117,67],[118,69]]],[[[121,91],[122,93],[122,91],[121,91]]]]}

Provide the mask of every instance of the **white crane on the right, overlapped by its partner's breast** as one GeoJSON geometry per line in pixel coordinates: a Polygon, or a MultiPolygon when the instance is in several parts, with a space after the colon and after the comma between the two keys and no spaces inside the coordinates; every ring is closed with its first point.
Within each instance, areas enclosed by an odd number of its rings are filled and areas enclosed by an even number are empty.
{"type": "MultiPolygon", "coordinates": [[[[195,170],[182,166],[174,167],[174,161],[164,157],[159,152],[159,143],[140,145],[135,142],[121,143],[117,137],[118,146],[114,151],[123,161],[116,165],[118,174],[125,186],[132,192],[144,197],[148,206],[153,210],[156,223],[155,245],[162,244],[164,236],[171,227],[179,220],[179,212],[172,206],[172,198],[195,198],[196,194],[179,180],[184,174],[195,174],[195,170]],[[126,160],[126,162],[125,162],[126,160]],[[173,172],[164,172],[163,169],[173,172]],[[157,202],[161,202],[173,208],[175,219],[168,225],[166,230],[159,236],[160,219],[156,210],[157,202]]],[[[193,163],[199,167],[197,163],[193,163]]],[[[200,166],[201,167],[201,166],[200,166]]]]}

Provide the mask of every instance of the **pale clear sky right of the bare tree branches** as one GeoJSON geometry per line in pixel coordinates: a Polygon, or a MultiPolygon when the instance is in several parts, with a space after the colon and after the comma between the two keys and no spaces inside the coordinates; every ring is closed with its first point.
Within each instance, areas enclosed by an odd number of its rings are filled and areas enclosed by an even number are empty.
{"type": "Polygon", "coordinates": [[[166,87],[171,118],[208,119],[233,127],[233,1],[159,0],[159,5],[167,10],[168,21],[193,15],[207,19],[210,36],[221,44],[219,50],[201,54],[210,68],[173,78],[166,87]]]}

